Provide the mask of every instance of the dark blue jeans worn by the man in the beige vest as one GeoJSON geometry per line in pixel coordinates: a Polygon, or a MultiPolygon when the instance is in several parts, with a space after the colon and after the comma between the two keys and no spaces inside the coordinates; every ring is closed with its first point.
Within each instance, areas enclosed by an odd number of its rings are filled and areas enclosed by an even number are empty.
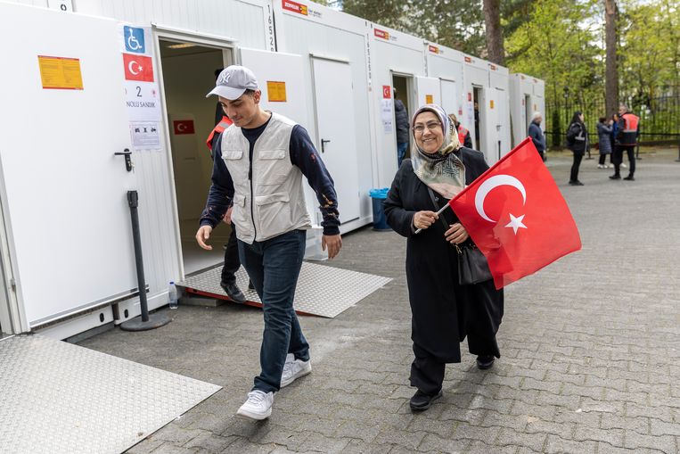
{"type": "Polygon", "coordinates": [[[265,316],[265,332],[259,351],[262,372],[253,390],[277,392],[288,353],[309,359],[309,344],[293,310],[295,286],[305,256],[305,230],[293,230],[264,242],[246,244],[239,240],[243,267],[258,292],[265,316]]]}

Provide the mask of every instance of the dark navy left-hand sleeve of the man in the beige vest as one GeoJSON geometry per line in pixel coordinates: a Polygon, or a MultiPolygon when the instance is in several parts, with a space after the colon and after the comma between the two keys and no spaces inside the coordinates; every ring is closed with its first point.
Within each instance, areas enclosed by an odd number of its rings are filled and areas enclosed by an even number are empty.
{"type": "Polygon", "coordinates": [[[215,141],[213,148],[212,185],[208,193],[208,202],[201,213],[200,225],[215,228],[232,205],[233,180],[222,159],[222,135],[215,141]]]}

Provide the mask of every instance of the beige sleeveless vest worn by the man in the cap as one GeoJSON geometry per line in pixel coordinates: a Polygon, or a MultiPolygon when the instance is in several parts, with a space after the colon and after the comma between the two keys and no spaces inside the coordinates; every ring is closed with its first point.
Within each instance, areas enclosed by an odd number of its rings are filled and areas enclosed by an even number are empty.
{"type": "Polygon", "coordinates": [[[250,169],[250,144],[233,125],[222,136],[222,159],[233,179],[232,222],[244,243],[266,241],[298,228],[311,227],[302,189],[302,172],[291,164],[291,133],[295,122],[272,113],[255,142],[250,169]]]}

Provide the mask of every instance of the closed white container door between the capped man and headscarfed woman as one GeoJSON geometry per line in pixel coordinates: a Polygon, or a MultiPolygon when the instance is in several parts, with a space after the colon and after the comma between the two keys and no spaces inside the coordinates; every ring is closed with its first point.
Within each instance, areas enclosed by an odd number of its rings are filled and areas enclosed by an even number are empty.
{"type": "Polygon", "coordinates": [[[312,62],[317,149],[335,182],[340,222],[346,223],[360,217],[352,70],[348,63],[319,58],[312,62]]]}

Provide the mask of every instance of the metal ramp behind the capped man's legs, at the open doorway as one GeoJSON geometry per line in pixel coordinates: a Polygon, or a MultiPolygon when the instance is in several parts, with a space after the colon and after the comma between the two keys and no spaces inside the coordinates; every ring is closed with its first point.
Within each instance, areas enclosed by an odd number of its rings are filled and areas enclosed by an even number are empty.
{"type": "MultiPolygon", "coordinates": [[[[221,272],[222,267],[212,268],[192,277],[187,277],[176,285],[184,287],[186,293],[189,294],[231,301],[222,287],[219,286],[221,272]]],[[[295,311],[299,314],[333,318],[391,280],[389,277],[327,267],[305,261],[302,262],[293,304],[295,311]]],[[[258,308],[262,307],[258,293],[248,289],[248,274],[243,267],[236,272],[236,284],[245,295],[246,304],[258,308]]]]}

